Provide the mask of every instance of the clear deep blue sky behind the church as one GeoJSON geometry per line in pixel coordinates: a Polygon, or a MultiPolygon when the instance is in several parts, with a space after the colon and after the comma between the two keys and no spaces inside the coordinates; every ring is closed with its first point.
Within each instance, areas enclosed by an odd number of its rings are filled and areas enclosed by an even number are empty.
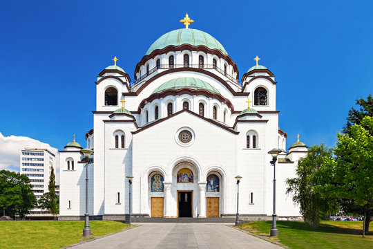
{"type": "Polygon", "coordinates": [[[93,128],[95,81],[114,56],[130,75],[151,44],[183,28],[224,46],[240,78],[275,75],[287,145],[332,146],[356,98],[372,93],[372,1],[0,2],[0,132],[63,149],[93,128]]]}

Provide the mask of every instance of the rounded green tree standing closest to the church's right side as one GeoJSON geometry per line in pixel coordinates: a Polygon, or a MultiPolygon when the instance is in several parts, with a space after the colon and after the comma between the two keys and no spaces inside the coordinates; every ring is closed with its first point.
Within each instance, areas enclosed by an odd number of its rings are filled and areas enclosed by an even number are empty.
{"type": "Polygon", "coordinates": [[[318,191],[318,186],[332,181],[333,150],[325,145],[309,147],[305,158],[300,158],[296,178],[287,179],[287,194],[300,205],[300,214],[310,225],[317,227],[320,218],[336,210],[336,201],[318,191]]]}

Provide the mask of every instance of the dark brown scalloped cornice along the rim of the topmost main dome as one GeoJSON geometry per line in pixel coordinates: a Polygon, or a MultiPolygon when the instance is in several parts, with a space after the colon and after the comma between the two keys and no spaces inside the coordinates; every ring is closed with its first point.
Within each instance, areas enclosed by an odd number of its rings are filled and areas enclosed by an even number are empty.
{"type": "Polygon", "coordinates": [[[148,61],[149,59],[154,59],[157,55],[166,54],[166,53],[169,53],[171,51],[182,51],[182,50],[202,51],[206,54],[209,53],[211,55],[216,55],[220,59],[225,59],[228,62],[228,64],[231,64],[233,66],[234,71],[236,71],[236,73],[237,73],[236,79],[238,80],[240,78],[239,73],[238,73],[237,64],[235,62],[233,62],[233,60],[231,59],[231,57],[229,55],[224,55],[218,49],[207,48],[207,46],[203,46],[203,45],[192,46],[191,44],[182,44],[180,46],[169,45],[169,46],[166,46],[166,48],[155,49],[155,50],[153,50],[153,52],[151,52],[151,54],[145,55],[144,57],[142,57],[140,62],[138,62],[136,64],[135,73],[134,73],[135,80],[137,80],[136,72],[139,71],[140,66],[144,65],[145,62],[148,61]]]}

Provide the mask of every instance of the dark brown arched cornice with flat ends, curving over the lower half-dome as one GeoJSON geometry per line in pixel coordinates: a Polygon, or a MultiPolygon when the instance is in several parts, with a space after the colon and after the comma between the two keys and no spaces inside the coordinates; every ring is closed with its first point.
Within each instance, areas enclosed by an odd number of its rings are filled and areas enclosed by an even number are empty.
{"type": "Polygon", "coordinates": [[[154,75],[153,77],[151,77],[142,86],[140,86],[140,89],[138,89],[135,93],[122,93],[122,95],[124,95],[124,96],[135,95],[135,96],[137,96],[142,92],[142,90],[144,90],[146,88],[146,86],[149,86],[149,84],[151,84],[151,82],[153,82],[154,80],[157,80],[157,78],[162,77],[163,75],[167,75],[169,73],[177,73],[177,72],[185,72],[185,71],[202,73],[202,74],[208,75],[210,77],[213,77],[213,79],[218,80],[218,82],[222,83],[232,93],[233,96],[236,96],[236,97],[237,96],[249,96],[249,94],[250,94],[250,93],[242,93],[242,92],[234,91],[226,81],[222,80],[222,78],[218,77],[218,75],[216,75],[215,73],[211,73],[211,72],[206,71],[206,70],[201,69],[201,68],[183,67],[183,68],[171,68],[171,69],[168,69],[166,71],[160,72],[160,73],[154,75]]]}

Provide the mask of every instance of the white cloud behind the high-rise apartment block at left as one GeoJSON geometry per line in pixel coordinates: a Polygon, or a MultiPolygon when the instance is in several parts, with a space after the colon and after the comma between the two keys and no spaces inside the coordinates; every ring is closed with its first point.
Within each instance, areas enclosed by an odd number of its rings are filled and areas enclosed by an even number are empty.
{"type": "Polygon", "coordinates": [[[7,169],[19,172],[20,152],[24,148],[49,149],[56,155],[56,180],[59,179],[59,154],[58,149],[51,147],[45,142],[28,138],[25,136],[3,136],[0,132],[0,170],[7,169]]]}

